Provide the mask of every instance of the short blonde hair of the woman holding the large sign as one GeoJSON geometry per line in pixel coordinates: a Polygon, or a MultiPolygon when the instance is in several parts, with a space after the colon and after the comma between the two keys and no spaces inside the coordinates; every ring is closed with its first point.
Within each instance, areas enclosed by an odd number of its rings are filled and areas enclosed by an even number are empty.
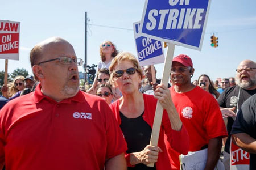
{"type": "Polygon", "coordinates": [[[114,84],[114,73],[113,73],[114,67],[117,66],[120,62],[125,61],[125,60],[133,63],[134,68],[138,72],[139,76],[141,76],[141,79],[143,79],[143,71],[141,69],[141,66],[139,66],[139,62],[138,62],[137,58],[135,58],[135,56],[133,54],[131,54],[130,52],[121,52],[117,56],[115,56],[114,59],[112,59],[112,62],[109,66],[109,71],[110,71],[109,82],[110,82],[110,84],[114,84]]]}

